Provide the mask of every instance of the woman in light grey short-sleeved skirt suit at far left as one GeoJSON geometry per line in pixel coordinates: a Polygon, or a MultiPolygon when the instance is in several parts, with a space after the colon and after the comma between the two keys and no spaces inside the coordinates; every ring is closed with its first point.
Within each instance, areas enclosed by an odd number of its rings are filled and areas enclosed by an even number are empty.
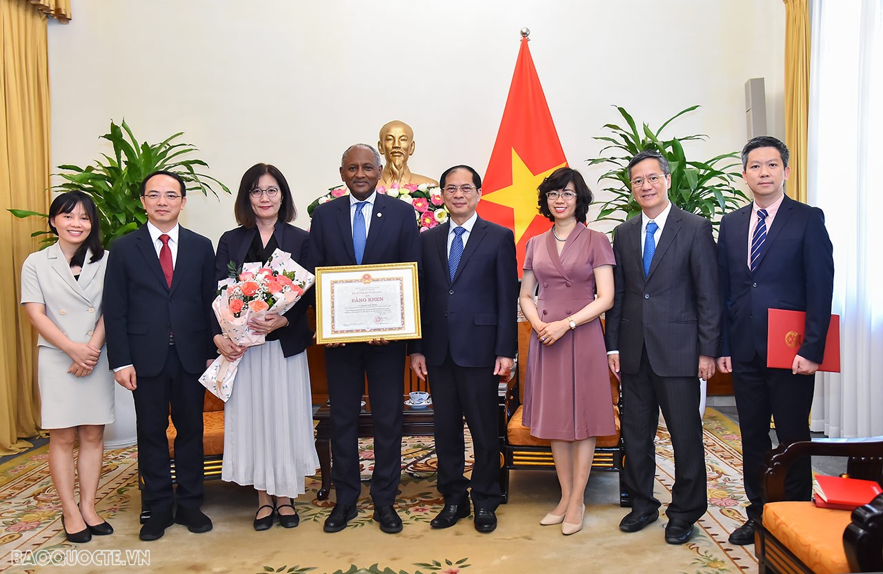
{"type": "Polygon", "coordinates": [[[98,213],[86,193],[62,193],[53,200],[49,229],[58,241],[28,255],[21,270],[21,304],[40,334],[42,427],[49,429],[49,472],[61,501],[64,535],[71,542],[88,542],[113,532],[95,512],[104,425],[114,420],[113,374],[102,353],[107,257],[98,213]],[[78,436],[79,505],[73,495],[78,436]]]}

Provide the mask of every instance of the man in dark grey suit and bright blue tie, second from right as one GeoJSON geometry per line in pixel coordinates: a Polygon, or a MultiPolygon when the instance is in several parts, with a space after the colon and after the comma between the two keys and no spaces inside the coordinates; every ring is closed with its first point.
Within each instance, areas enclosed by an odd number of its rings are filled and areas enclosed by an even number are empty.
{"type": "Polygon", "coordinates": [[[615,230],[605,334],[610,370],[623,381],[623,487],[632,500],[619,527],[638,532],[659,517],[653,438],[661,409],[675,449],[665,540],[683,544],[708,507],[698,378],[714,374],[721,338],[712,224],[671,204],[671,172],[658,152],[636,155],[629,179],[641,215],[615,230]]]}

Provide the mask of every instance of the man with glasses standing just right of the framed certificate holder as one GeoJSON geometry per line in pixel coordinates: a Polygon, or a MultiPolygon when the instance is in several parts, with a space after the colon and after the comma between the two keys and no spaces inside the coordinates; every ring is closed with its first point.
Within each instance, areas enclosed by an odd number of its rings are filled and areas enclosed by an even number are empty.
{"type": "Polygon", "coordinates": [[[424,380],[432,372],[438,488],[445,503],[430,525],[448,528],[468,517],[470,489],[475,529],[492,532],[502,501],[497,382],[512,368],[518,346],[515,237],[475,213],[478,172],[457,165],[439,180],[450,221],[420,236],[423,339],[411,345],[417,376],[424,380]],[[464,416],[475,449],[472,480],[463,475],[464,416]]]}

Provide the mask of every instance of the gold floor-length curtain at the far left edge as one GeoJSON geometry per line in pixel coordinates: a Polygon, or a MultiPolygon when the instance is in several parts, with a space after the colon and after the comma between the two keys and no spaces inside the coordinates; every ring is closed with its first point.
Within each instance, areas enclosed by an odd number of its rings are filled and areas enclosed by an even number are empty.
{"type": "Polygon", "coordinates": [[[37,249],[37,218],[6,209],[49,210],[47,14],[70,19],[69,0],[0,0],[0,455],[39,432],[35,334],[19,307],[21,265],[37,249]]]}

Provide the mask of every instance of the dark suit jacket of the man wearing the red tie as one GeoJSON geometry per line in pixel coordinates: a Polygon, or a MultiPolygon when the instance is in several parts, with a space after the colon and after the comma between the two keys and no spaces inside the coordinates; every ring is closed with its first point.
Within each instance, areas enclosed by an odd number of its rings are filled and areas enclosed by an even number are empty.
{"type": "Polygon", "coordinates": [[[211,241],[179,228],[171,288],[147,225],[118,238],[109,253],[103,305],[110,368],[133,365],[138,375],[155,376],[172,349],[185,371],[205,371],[206,359],[217,356],[211,335],[217,288],[211,241]]]}

